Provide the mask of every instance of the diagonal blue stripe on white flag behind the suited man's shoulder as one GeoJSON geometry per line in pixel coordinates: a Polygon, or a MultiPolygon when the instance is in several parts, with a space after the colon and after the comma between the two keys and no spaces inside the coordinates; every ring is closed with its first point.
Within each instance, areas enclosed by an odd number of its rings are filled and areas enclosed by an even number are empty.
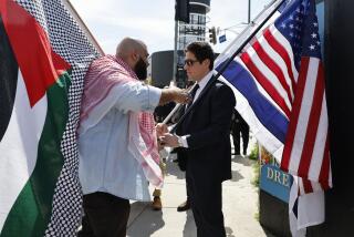
{"type": "MultiPolygon", "coordinates": [[[[225,63],[225,62],[223,62],[225,63]]],[[[219,71],[223,63],[216,70],[219,71]]],[[[252,75],[238,62],[232,61],[222,76],[230,82],[249,102],[258,120],[280,142],[285,142],[288,118],[258,90],[252,75]]]]}

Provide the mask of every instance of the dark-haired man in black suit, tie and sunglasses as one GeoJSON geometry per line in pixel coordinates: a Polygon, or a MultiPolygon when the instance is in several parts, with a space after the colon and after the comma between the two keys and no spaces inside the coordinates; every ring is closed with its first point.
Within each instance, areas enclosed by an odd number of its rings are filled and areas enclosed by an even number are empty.
{"type": "Polygon", "coordinates": [[[190,43],[185,52],[185,70],[198,89],[175,126],[176,134],[165,133],[160,141],[177,147],[179,165],[186,169],[198,237],[225,237],[221,183],[231,178],[229,131],[235,96],[215,79],[214,52],[208,43],[190,43]]]}

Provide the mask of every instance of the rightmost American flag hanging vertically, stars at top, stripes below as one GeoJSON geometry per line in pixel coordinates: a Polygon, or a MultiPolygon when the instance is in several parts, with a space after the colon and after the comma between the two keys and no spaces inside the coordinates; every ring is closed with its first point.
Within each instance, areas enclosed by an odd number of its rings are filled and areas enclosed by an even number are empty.
{"type": "Polygon", "coordinates": [[[299,69],[281,167],[304,178],[304,193],[311,193],[314,187],[305,179],[319,182],[327,189],[332,186],[329,121],[314,2],[303,1],[295,12],[275,25],[287,39],[295,39],[292,48],[299,69]]]}

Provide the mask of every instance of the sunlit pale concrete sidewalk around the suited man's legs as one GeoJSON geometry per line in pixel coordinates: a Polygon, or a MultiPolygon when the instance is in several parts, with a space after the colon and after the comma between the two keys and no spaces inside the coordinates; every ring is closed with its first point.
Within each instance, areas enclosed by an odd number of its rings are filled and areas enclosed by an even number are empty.
{"type": "MultiPolygon", "coordinates": [[[[252,144],[252,143],[251,143],[252,144]]],[[[178,213],[177,206],[186,199],[184,173],[176,163],[167,161],[163,189],[163,210],[154,212],[149,203],[132,203],[127,236],[129,237],[196,237],[191,210],[178,213]]],[[[264,237],[267,234],[256,219],[258,189],[251,184],[254,162],[232,158],[232,179],[223,183],[223,216],[228,237],[264,237]]],[[[268,235],[270,236],[270,235],[268,235]]]]}

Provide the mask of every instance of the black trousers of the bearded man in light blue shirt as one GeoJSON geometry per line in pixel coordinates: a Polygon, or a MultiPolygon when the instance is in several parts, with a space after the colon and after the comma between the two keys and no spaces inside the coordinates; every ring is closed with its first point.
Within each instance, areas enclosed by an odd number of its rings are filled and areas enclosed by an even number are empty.
{"type": "Polygon", "coordinates": [[[125,237],[131,204],[107,193],[84,195],[85,216],[79,237],[125,237]]]}

